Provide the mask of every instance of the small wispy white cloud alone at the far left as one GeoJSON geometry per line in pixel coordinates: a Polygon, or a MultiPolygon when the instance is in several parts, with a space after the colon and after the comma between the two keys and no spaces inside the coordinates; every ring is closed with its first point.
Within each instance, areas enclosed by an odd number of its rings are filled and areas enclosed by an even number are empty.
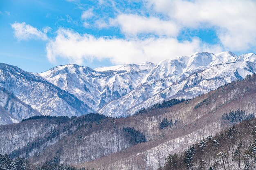
{"type": "Polygon", "coordinates": [[[46,33],[43,33],[39,29],[26,24],[25,22],[14,22],[11,24],[12,29],[14,30],[14,35],[18,40],[28,40],[28,39],[41,39],[47,40],[46,33]]]}

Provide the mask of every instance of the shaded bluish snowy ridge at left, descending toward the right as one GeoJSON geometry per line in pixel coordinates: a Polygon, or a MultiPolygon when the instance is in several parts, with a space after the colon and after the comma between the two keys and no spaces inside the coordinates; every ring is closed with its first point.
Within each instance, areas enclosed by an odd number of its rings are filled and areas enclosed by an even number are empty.
{"type": "Polygon", "coordinates": [[[42,115],[72,116],[93,112],[74,95],[16,66],[0,64],[0,86],[42,115]]]}

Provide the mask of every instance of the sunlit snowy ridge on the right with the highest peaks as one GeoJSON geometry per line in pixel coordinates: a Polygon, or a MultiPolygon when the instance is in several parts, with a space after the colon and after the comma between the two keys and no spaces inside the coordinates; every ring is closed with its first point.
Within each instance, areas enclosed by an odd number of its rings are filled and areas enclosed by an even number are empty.
{"type": "Polygon", "coordinates": [[[256,55],[252,53],[237,56],[223,52],[217,55],[194,53],[174,60],[164,60],[152,69],[147,82],[130,94],[110,102],[98,112],[109,116],[113,113],[115,116],[127,116],[140,108],[171,98],[196,97],[256,73],[255,58],[256,55]]]}

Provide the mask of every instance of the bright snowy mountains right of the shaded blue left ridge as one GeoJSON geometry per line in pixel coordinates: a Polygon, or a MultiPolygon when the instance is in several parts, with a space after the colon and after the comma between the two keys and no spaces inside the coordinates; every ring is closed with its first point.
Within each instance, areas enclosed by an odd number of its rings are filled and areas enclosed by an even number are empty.
{"type": "Polygon", "coordinates": [[[91,69],[69,64],[40,75],[95,112],[120,117],[171,98],[193,98],[256,72],[256,55],[199,52],[153,64],[91,69]]]}

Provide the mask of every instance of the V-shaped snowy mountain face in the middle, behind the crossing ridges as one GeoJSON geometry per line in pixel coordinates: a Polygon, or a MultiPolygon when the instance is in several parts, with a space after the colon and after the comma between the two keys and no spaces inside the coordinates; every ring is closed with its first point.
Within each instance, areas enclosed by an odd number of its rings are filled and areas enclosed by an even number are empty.
{"type": "MultiPolygon", "coordinates": [[[[76,95],[97,111],[134,90],[155,64],[125,64],[116,70],[97,72],[89,67],[68,64],[57,66],[40,75],[52,84],[76,95]]],[[[96,69],[97,70],[97,69],[96,69]]]]}

